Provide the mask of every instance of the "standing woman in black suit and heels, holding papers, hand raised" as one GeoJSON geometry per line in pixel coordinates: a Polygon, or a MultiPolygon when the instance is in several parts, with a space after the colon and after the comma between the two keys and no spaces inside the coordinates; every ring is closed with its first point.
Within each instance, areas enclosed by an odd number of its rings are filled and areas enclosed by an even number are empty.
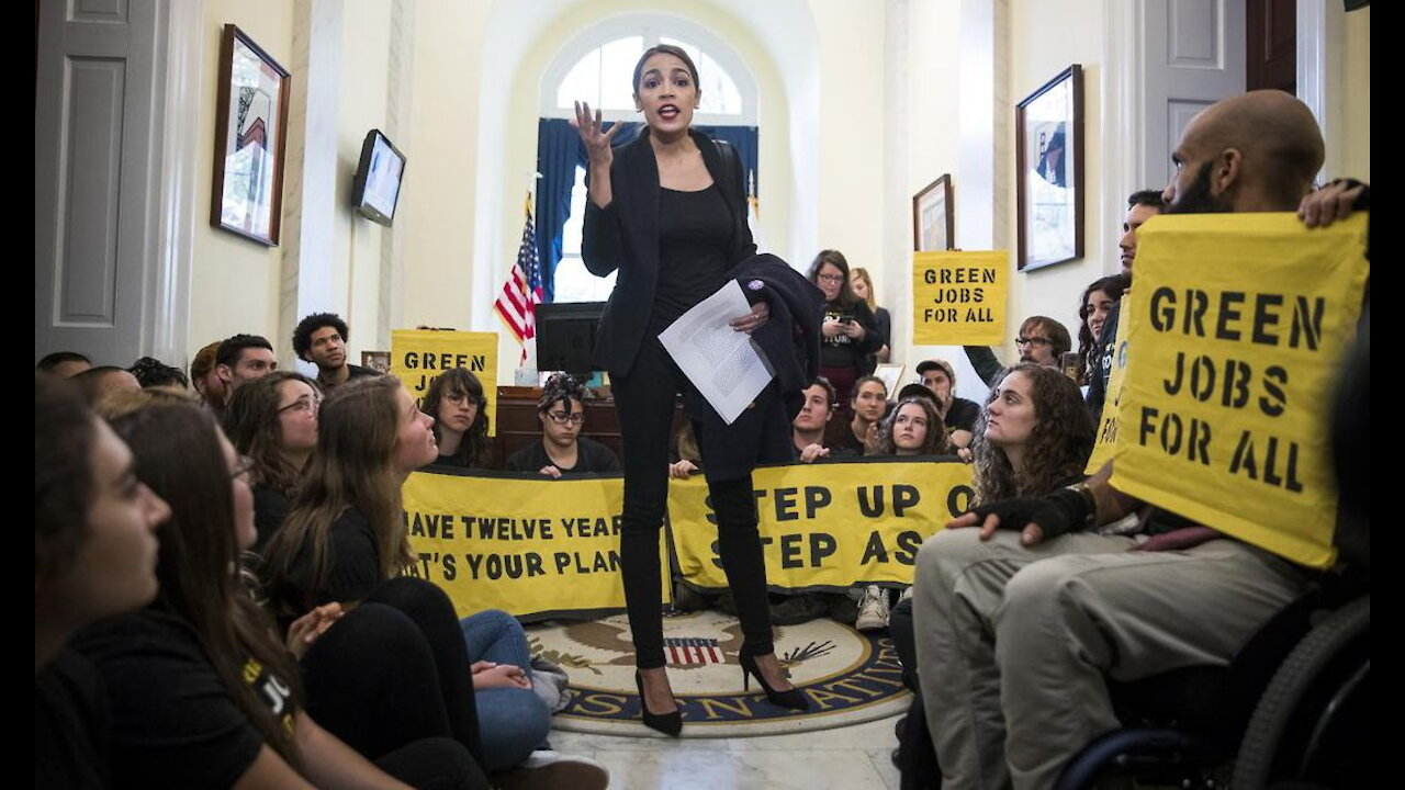
{"type": "MultiPolygon", "coordinates": [[[[624,444],[620,561],[634,633],[643,723],[677,735],[681,715],[665,672],[659,530],[667,499],[669,429],[679,392],[702,451],[719,552],[736,600],[745,644],[743,678],[767,697],[806,707],[785,679],[771,644],[766,564],[756,529],[752,467],[791,455],[790,416],[773,382],[731,426],[693,391],[658,340],[659,332],[717,291],[756,253],[746,225],[742,166],[732,149],[688,128],[698,104],[697,67],[687,52],[660,45],[634,70],[635,107],[648,128],[614,152],[600,112],[576,105],[590,155],[582,257],[599,277],[620,270],[600,319],[596,358],[610,371],[624,444]]],[[[760,280],[749,284],[752,312],[735,319],[752,332],[770,318],[760,280]]]]}

